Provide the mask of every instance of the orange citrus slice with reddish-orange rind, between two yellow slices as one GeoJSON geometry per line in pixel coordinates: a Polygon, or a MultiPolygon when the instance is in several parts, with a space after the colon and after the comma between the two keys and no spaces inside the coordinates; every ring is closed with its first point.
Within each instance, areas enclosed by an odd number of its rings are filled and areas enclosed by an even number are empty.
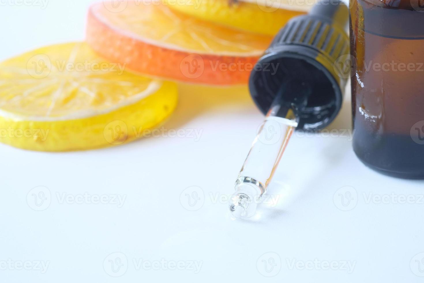
{"type": "Polygon", "coordinates": [[[96,3],[89,45],[138,73],[200,84],[245,84],[272,38],[216,26],[152,0],[96,3]]]}

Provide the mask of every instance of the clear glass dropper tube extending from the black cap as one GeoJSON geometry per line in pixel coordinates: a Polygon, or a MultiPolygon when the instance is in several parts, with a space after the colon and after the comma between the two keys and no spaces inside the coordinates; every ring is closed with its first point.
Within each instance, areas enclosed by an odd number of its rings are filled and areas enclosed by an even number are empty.
{"type": "Polygon", "coordinates": [[[229,200],[229,210],[234,217],[245,219],[255,215],[257,205],[298,126],[310,92],[307,84],[291,80],[282,85],[274,98],[235,182],[235,193],[229,200]],[[277,133],[277,138],[270,140],[269,133],[272,131],[277,133]]]}

